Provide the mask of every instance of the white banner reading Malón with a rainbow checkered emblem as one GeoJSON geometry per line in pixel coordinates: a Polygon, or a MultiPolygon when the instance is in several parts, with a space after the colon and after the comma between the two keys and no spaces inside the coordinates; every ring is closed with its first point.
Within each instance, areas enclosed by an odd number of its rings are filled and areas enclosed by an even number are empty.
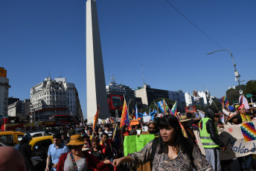
{"type": "MultiPolygon", "coordinates": [[[[256,120],[239,125],[225,125],[224,129],[218,129],[220,140],[223,141],[227,149],[220,150],[220,160],[239,158],[249,154],[256,154],[256,120]]],[[[204,148],[199,138],[199,132],[194,131],[196,140],[205,154],[204,148]]]]}

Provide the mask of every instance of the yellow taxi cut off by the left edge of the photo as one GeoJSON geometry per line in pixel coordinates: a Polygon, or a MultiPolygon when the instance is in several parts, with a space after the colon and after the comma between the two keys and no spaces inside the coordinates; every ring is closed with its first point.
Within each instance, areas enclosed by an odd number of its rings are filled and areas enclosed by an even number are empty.
{"type": "Polygon", "coordinates": [[[8,146],[14,146],[19,141],[22,141],[24,132],[4,131],[0,132],[0,141],[8,146]]]}

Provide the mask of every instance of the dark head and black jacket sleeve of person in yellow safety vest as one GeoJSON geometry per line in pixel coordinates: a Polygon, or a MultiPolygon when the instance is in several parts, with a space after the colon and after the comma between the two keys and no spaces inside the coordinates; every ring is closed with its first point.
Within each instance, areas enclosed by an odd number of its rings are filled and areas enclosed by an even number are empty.
{"type": "Polygon", "coordinates": [[[214,141],[214,143],[216,143],[217,145],[223,147],[225,145],[222,141],[220,141],[219,134],[216,133],[214,115],[215,115],[215,109],[213,107],[207,107],[205,109],[205,117],[209,117],[211,119],[205,123],[206,130],[208,134],[210,134],[211,140],[214,141]]]}

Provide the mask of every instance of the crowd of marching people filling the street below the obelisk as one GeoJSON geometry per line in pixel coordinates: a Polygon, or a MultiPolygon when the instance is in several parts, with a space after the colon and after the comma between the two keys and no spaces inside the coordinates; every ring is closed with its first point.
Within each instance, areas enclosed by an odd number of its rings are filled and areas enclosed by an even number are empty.
{"type": "MultiPolygon", "coordinates": [[[[80,135],[71,127],[68,132],[61,129],[60,134],[53,136],[54,143],[48,147],[48,158],[45,171],[49,170],[231,170],[233,160],[220,161],[220,150],[225,151],[225,144],[220,141],[217,128],[225,125],[240,124],[255,120],[255,109],[246,111],[245,106],[223,106],[222,112],[213,107],[205,109],[205,117],[191,116],[192,120],[179,122],[172,114],[156,117],[155,121],[123,126],[118,129],[119,146],[113,141],[116,124],[99,124],[93,130],[86,125],[80,135]],[[225,118],[221,121],[221,114],[225,118]],[[185,138],[182,126],[188,134],[185,138]],[[205,155],[199,149],[193,126],[199,127],[200,138],[205,155]],[[135,135],[155,135],[139,152],[124,156],[124,138],[135,135]]],[[[119,126],[119,125],[118,125],[119,126]]],[[[27,170],[33,170],[28,146],[31,136],[25,135],[19,151],[25,160],[27,170]]],[[[252,155],[237,158],[240,170],[254,170],[252,155]]]]}

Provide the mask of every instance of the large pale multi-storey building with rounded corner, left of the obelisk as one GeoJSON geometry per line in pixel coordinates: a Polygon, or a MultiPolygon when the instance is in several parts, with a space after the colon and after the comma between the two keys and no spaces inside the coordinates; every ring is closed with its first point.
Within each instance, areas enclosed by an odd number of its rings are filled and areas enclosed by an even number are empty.
{"type": "Polygon", "coordinates": [[[31,88],[31,120],[45,121],[52,115],[69,114],[83,117],[74,83],[63,77],[51,77],[31,88]]]}

